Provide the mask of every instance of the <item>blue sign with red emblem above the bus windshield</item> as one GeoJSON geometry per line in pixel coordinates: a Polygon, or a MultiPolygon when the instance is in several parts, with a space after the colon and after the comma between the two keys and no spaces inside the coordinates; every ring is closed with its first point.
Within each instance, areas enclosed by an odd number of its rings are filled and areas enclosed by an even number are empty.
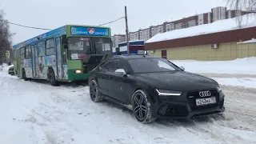
{"type": "Polygon", "coordinates": [[[71,27],[71,35],[109,36],[109,29],[97,27],[71,27]]]}

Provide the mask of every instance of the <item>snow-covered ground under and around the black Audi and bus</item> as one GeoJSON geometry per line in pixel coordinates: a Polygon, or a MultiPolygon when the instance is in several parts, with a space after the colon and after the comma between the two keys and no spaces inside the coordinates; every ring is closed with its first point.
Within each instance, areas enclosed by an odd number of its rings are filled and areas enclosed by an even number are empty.
{"type": "Polygon", "coordinates": [[[143,125],[111,102],[91,102],[87,86],[24,82],[6,70],[0,72],[0,143],[256,143],[256,89],[222,86],[223,117],[143,125]]]}

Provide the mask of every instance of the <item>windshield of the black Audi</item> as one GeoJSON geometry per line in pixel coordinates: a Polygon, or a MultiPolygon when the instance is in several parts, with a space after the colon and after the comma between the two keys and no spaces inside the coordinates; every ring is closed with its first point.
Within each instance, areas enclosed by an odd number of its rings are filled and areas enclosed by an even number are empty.
{"type": "Polygon", "coordinates": [[[129,60],[134,73],[168,72],[179,70],[164,58],[136,58],[129,60]]]}

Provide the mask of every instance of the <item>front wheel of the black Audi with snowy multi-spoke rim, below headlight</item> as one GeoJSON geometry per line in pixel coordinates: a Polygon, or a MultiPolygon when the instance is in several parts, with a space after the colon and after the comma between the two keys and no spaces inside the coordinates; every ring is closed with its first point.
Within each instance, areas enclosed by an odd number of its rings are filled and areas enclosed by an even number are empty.
{"type": "Polygon", "coordinates": [[[149,98],[144,90],[136,90],[132,99],[133,114],[138,122],[150,123],[156,118],[152,116],[149,98]]]}

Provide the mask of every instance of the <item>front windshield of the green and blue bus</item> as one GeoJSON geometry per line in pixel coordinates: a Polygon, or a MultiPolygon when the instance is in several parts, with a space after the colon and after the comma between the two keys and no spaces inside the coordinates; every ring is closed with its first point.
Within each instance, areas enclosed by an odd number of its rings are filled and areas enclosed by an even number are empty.
{"type": "Polygon", "coordinates": [[[69,38],[69,59],[82,59],[86,54],[106,54],[110,50],[110,38],[69,38]]]}

